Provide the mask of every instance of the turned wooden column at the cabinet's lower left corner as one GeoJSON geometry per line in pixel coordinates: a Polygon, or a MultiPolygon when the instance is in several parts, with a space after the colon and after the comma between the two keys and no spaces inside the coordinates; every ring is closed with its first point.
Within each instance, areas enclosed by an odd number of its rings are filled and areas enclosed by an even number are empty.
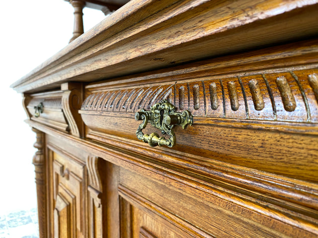
{"type": "Polygon", "coordinates": [[[36,193],[38,200],[38,222],[40,238],[47,238],[47,196],[46,196],[46,173],[44,160],[44,133],[40,130],[32,128],[36,133],[36,142],[34,147],[38,149],[33,156],[33,165],[35,167],[36,193]]]}

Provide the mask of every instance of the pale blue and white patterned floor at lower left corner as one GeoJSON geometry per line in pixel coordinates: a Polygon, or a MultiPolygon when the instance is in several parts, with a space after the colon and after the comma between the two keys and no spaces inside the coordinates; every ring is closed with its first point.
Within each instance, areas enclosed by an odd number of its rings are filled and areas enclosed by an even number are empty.
{"type": "Polygon", "coordinates": [[[0,215],[0,238],[38,238],[36,208],[0,215]]]}

